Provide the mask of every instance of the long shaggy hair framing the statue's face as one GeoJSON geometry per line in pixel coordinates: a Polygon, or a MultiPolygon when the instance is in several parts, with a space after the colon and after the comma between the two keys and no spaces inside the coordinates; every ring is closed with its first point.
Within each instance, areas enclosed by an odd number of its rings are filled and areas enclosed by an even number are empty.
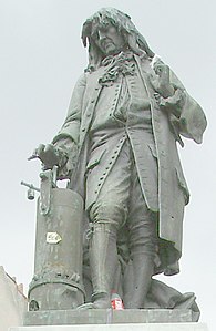
{"type": "Polygon", "coordinates": [[[102,8],[90,17],[82,27],[82,41],[84,46],[89,44],[89,65],[90,71],[96,70],[101,65],[104,54],[97,48],[95,38],[97,29],[111,23],[122,33],[127,48],[135,54],[145,54],[148,58],[154,56],[154,52],[148,48],[144,37],[137,31],[131,17],[114,8],[102,8]]]}

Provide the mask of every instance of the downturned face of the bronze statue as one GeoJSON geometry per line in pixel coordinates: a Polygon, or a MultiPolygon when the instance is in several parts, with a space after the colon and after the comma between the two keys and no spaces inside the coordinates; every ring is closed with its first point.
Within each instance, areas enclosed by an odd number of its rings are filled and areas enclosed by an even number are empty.
{"type": "Polygon", "coordinates": [[[111,23],[99,27],[95,43],[104,55],[119,54],[125,46],[123,35],[111,23]]]}

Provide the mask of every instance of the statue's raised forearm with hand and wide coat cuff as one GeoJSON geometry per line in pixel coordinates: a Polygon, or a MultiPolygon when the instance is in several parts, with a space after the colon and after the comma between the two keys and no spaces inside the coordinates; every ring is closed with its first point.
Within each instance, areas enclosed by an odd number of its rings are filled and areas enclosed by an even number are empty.
{"type": "MultiPolygon", "coordinates": [[[[169,112],[169,121],[176,136],[183,135],[200,144],[207,125],[202,107],[187,93],[175,73],[160,58],[155,56],[152,65],[156,73],[153,85],[156,86],[156,90],[157,87],[162,90],[158,89],[158,93],[165,97],[165,106],[169,112]],[[167,95],[161,93],[164,91],[167,95]]],[[[161,104],[161,106],[163,105],[161,104]]],[[[181,137],[178,141],[182,141],[181,137]]]]}

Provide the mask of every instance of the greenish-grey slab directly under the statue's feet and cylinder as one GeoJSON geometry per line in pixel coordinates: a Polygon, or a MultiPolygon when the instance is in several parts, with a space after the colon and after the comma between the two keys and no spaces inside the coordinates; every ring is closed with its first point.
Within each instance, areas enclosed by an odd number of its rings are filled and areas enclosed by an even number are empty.
{"type": "Polygon", "coordinates": [[[194,322],[189,309],[86,309],[30,311],[24,325],[131,324],[194,322]]]}

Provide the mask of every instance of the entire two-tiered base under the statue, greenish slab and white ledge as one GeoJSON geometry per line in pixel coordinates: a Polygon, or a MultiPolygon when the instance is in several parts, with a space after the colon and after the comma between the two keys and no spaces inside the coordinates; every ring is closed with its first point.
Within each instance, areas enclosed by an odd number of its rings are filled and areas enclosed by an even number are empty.
{"type": "Polygon", "coordinates": [[[9,331],[208,331],[206,324],[193,320],[188,309],[30,311],[25,327],[9,331]]]}

